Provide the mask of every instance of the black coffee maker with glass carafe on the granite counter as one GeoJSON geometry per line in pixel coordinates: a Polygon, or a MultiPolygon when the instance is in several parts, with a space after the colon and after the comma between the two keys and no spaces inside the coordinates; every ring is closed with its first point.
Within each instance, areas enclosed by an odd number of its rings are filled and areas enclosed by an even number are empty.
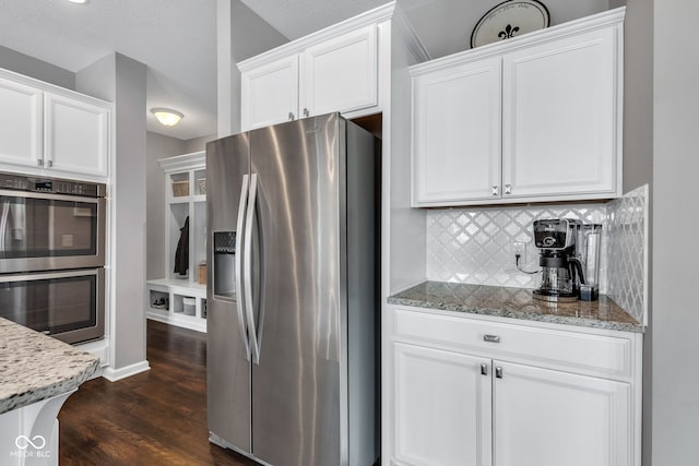
{"type": "Polygon", "coordinates": [[[596,299],[602,226],[553,218],[535,220],[533,228],[542,267],[534,298],[564,302],[596,299]]]}

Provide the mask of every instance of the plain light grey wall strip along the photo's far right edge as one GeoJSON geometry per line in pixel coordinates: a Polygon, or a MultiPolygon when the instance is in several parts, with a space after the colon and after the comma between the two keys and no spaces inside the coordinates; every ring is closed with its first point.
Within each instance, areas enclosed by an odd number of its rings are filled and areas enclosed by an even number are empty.
{"type": "Polygon", "coordinates": [[[688,466],[699,462],[699,2],[653,8],[652,458],[688,466]]]}

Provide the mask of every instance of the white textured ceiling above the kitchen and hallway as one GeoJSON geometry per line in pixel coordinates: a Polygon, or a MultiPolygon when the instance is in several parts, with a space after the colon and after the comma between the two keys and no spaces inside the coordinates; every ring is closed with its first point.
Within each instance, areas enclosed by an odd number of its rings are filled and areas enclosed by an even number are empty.
{"type": "MultiPolygon", "coordinates": [[[[232,0],[236,1],[236,0],[232,0]]],[[[295,39],[388,0],[242,0],[295,39]]],[[[542,0],[552,24],[609,8],[609,0],[542,0]]],[[[0,0],[0,46],[78,72],[111,52],[147,65],[147,130],[189,140],[216,133],[217,0],[0,0]],[[149,109],[175,108],[159,126],[149,109]]],[[[478,19],[500,0],[399,0],[433,58],[469,48],[478,19]]],[[[234,17],[235,27],[235,17],[234,17]]],[[[254,37],[250,38],[254,40],[254,37]]]]}

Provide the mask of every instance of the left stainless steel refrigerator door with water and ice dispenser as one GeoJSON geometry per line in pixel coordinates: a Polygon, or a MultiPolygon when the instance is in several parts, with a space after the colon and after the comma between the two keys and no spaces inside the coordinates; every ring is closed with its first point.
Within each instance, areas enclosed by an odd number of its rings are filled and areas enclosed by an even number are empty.
{"type": "MultiPolygon", "coordinates": [[[[209,430],[242,452],[251,451],[250,362],[241,338],[236,284],[235,256],[241,251],[214,253],[216,232],[237,228],[244,176],[249,174],[249,139],[246,134],[225,138],[206,145],[206,218],[209,248],[206,385],[209,430]],[[214,296],[214,284],[221,290],[214,296]]],[[[230,234],[233,237],[233,235],[230,234]]],[[[244,323],[245,324],[245,323],[244,323]]]]}

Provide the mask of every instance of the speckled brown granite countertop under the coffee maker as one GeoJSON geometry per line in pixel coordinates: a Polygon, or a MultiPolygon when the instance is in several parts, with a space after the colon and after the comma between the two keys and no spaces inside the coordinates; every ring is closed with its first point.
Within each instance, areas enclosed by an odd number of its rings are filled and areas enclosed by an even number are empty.
{"type": "Polygon", "coordinates": [[[606,296],[566,303],[534,299],[532,290],[460,283],[425,282],[388,298],[391,304],[522,319],[625,332],[643,326],[606,296]]]}

